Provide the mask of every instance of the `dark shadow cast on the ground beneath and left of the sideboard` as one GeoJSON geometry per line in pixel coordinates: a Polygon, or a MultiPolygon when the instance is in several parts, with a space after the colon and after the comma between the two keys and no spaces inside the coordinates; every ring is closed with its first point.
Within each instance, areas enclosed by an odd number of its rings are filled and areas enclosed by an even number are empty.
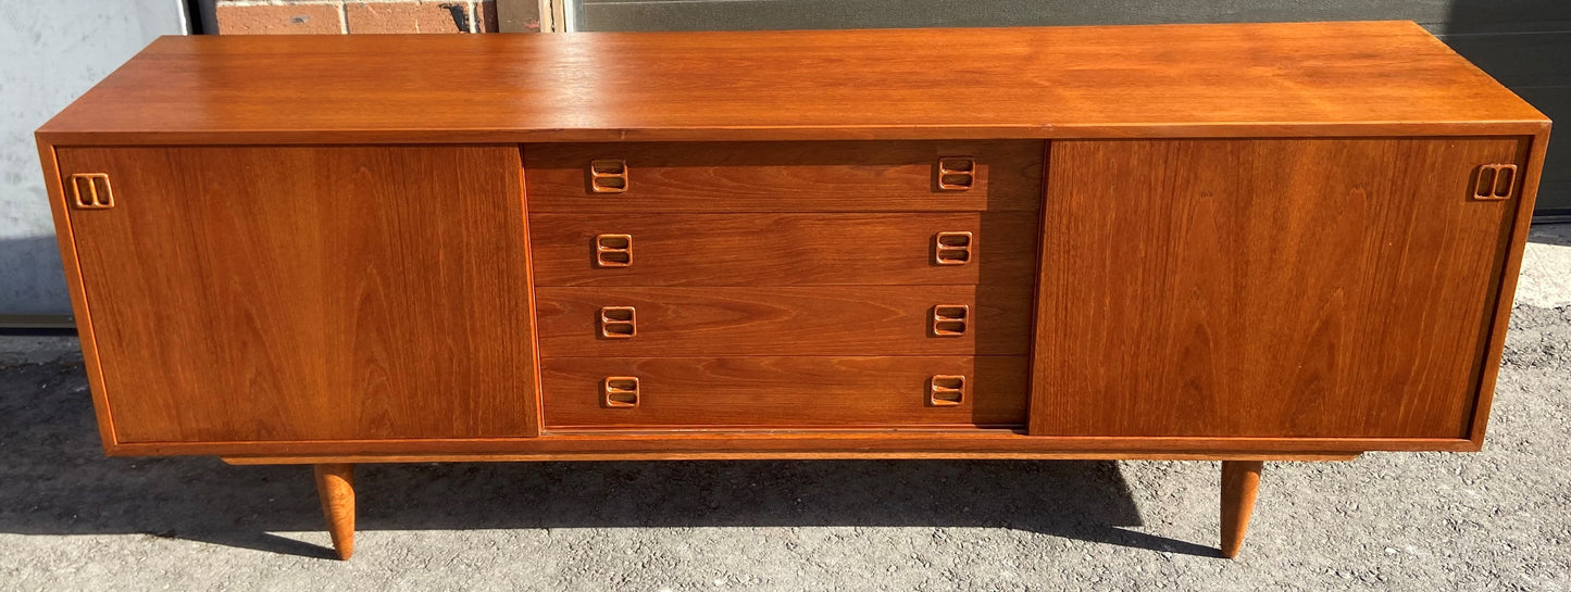
{"type": "MultiPolygon", "coordinates": [[[[1111,462],[366,465],[360,529],[983,526],[1214,556],[1134,532],[1111,462]]],[[[141,532],[328,557],[309,470],[107,459],[80,363],[0,367],[0,532],[141,532]]]]}

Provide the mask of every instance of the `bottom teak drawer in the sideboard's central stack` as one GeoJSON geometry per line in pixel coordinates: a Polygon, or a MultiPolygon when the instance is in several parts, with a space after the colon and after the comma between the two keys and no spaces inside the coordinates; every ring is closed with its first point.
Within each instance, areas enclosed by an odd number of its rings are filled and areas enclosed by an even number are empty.
{"type": "Polygon", "coordinates": [[[1026,356],[545,358],[547,429],[1020,426],[1026,356]],[[936,378],[935,378],[936,377],[936,378]]]}

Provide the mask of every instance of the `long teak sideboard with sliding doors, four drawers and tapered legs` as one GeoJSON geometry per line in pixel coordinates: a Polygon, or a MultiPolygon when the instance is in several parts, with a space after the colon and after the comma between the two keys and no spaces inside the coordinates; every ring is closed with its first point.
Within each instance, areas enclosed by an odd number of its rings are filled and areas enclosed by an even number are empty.
{"type": "Polygon", "coordinates": [[[1411,22],[162,38],[38,130],[104,448],[1477,451],[1549,121],[1411,22]]]}

